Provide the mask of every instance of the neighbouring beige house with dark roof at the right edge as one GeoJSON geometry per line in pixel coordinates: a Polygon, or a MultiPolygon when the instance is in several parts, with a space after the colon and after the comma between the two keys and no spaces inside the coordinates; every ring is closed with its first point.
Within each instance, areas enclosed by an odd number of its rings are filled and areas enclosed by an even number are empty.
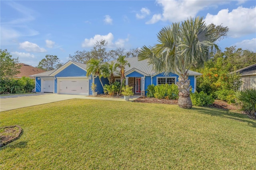
{"type": "Polygon", "coordinates": [[[235,72],[241,74],[240,80],[243,81],[240,90],[256,89],[256,63],[236,70],[235,72]]]}

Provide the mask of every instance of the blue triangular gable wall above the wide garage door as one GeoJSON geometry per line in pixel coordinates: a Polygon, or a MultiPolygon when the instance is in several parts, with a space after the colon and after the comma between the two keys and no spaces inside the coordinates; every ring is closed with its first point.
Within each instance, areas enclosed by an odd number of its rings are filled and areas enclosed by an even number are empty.
{"type": "Polygon", "coordinates": [[[60,73],[56,74],[55,77],[75,77],[75,76],[86,76],[86,71],[77,67],[74,64],[70,64],[64,70],[60,71],[60,73]]]}

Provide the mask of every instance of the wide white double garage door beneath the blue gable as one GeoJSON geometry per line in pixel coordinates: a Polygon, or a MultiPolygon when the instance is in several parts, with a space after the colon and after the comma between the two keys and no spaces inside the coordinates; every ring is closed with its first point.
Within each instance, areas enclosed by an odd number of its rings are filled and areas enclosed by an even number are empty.
{"type": "Polygon", "coordinates": [[[89,79],[59,79],[60,94],[89,95],[89,79]]]}

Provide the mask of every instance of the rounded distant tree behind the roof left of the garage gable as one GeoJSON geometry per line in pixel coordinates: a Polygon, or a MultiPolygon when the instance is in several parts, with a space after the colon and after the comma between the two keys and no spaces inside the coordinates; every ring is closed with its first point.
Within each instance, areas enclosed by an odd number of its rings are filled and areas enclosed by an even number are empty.
{"type": "Polygon", "coordinates": [[[57,57],[57,55],[46,55],[44,59],[42,59],[38,63],[38,68],[50,71],[54,69],[58,69],[63,65],[63,63],[60,63],[60,59],[57,57]]]}

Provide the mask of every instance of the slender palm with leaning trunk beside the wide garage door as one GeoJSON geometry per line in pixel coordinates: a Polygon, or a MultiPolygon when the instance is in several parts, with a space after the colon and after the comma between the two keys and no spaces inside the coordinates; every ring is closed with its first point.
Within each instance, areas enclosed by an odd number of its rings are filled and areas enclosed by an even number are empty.
{"type": "MultiPolygon", "coordinates": [[[[86,73],[86,76],[90,76],[91,74],[92,75],[97,75],[99,76],[99,79],[102,77],[102,63],[100,61],[100,59],[90,59],[89,61],[87,61],[86,63],[86,70],[87,70],[87,73],[86,73]]],[[[103,83],[100,79],[100,83],[103,87],[103,83]]]]}

